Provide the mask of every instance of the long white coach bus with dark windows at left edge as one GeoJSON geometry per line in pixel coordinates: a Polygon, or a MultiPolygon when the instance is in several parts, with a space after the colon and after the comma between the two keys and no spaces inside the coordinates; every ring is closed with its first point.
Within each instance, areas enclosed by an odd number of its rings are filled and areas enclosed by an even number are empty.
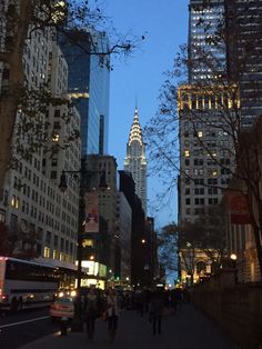
{"type": "Polygon", "coordinates": [[[75,278],[75,271],[60,270],[39,262],[0,257],[0,310],[18,311],[50,305],[64,277],[75,278]]]}

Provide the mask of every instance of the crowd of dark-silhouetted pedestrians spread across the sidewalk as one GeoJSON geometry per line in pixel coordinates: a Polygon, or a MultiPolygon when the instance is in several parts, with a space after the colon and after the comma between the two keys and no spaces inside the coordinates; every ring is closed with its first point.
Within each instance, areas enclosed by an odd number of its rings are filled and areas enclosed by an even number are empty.
{"type": "Polygon", "coordinates": [[[82,318],[85,322],[87,335],[90,340],[95,332],[95,320],[101,318],[108,321],[108,337],[112,342],[115,338],[119,315],[121,309],[134,310],[139,316],[148,315],[152,326],[152,335],[161,335],[162,316],[164,312],[175,313],[183,302],[190,301],[187,289],[141,289],[134,291],[115,291],[109,288],[105,291],[90,287],[82,297],[82,318]]]}

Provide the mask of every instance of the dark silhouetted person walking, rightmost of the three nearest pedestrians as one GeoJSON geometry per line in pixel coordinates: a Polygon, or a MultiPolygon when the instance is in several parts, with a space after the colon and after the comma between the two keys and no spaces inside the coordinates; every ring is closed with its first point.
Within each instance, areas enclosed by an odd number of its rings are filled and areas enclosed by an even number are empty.
{"type": "Polygon", "coordinates": [[[158,290],[152,293],[150,302],[150,322],[153,327],[153,336],[162,332],[163,296],[158,290]]]}

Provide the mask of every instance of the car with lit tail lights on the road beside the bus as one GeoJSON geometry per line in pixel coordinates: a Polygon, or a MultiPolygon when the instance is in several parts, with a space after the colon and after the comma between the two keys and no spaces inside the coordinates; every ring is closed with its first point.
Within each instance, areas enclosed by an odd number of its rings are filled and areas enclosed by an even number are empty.
{"type": "Polygon", "coordinates": [[[54,322],[61,318],[72,319],[74,313],[74,298],[61,297],[54,300],[50,306],[51,321],[54,322]]]}

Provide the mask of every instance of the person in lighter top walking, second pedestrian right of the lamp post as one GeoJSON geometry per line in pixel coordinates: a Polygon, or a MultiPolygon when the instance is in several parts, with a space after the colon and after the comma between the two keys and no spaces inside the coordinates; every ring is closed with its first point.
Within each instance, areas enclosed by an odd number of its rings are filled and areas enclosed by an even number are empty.
{"type": "Polygon", "coordinates": [[[107,306],[108,306],[108,336],[109,340],[113,342],[118,329],[119,318],[119,301],[118,296],[113,288],[109,288],[108,290],[107,306]]]}

